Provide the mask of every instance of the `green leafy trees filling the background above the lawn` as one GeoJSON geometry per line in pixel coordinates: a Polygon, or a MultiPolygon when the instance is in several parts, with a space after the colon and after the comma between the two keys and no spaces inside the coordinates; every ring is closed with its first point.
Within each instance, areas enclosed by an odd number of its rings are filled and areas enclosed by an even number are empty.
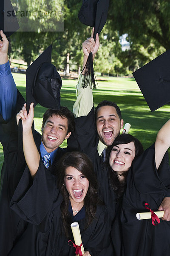
{"type": "MultiPolygon", "coordinates": [[[[40,16],[37,32],[16,32],[11,36],[11,55],[22,58],[28,66],[48,45],[53,45],[53,63],[58,70],[70,69],[80,72],[82,42],[91,35],[91,28],[80,23],[77,15],[82,0],[12,0],[17,8],[35,8],[55,14],[56,3],[64,6],[64,32],[52,32],[55,18],[45,22],[40,16]],[[42,5],[43,3],[43,5],[42,5]],[[68,58],[69,56],[69,58],[68,58]],[[67,67],[67,69],[66,69],[67,67]]],[[[110,0],[108,20],[100,34],[100,49],[95,58],[94,69],[101,74],[128,75],[156,58],[170,46],[169,0],[110,0]],[[127,34],[130,49],[121,49],[120,36],[127,34]]],[[[34,29],[36,18],[28,17],[34,29]]],[[[25,24],[27,25],[27,24],[25,24]]]]}

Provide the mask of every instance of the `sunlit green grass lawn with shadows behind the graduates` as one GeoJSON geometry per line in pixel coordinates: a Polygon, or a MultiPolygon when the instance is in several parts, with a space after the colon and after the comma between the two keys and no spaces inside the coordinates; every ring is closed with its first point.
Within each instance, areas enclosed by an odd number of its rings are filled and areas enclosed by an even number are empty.
{"type": "MultiPolygon", "coordinates": [[[[17,88],[26,98],[25,75],[13,73],[17,88]]],[[[131,124],[130,134],[141,140],[144,149],[150,146],[156,139],[156,134],[161,126],[170,118],[170,105],[161,107],[155,112],[151,112],[147,103],[133,78],[113,78],[102,77],[98,81],[98,87],[94,90],[94,105],[106,99],[116,102],[125,122],[131,124]]],[[[77,79],[62,79],[61,105],[72,110],[76,99],[75,85],[77,79]]],[[[40,132],[42,115],[45,108],[37,105],[34,111],[34,123],[37,131],[40,132]]],[[[67,144],[62,144],[65,147],[67,144]]],[[[0,166],[3,163],[3,148],[0,145],[0,166]]],[[[1,168],[0,168],[1,169],[1,168]]]]}

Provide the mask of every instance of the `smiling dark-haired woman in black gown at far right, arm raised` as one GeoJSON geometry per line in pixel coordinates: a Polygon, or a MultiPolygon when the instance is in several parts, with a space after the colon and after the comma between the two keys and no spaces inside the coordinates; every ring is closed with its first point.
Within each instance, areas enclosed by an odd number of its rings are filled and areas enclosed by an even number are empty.
{"type": "Polygon", "coordinates": [[[137,212],[154,211],[170,192],[170,120],[159,131],[156,142],[143,152],[142,144],[130,134],[119,135],[108,148],[107,166],[110,185],[120,209],[112,226],[116,256],[169,255],[170,223],[138,220],[137,212]]]}

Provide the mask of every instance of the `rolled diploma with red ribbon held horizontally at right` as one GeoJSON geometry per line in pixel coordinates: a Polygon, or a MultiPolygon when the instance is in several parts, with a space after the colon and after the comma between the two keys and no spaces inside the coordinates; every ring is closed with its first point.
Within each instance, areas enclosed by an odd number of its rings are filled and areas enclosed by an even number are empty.
{"type": "Polygon", "coordinates": [[[153,212],[153,210],[150,209],[150,206],[149,206],[148,203],[145,203],[145,208],[150,210],[150,212],[138,212],[138,213],[136,213],[136,218],[138,220],[144,220],[144,219],[152,218],[153,226],[156,226],[156,221],[159,224],[160,223],[159,218],[162,218],[164,216],[164,211],[153,212]]]}

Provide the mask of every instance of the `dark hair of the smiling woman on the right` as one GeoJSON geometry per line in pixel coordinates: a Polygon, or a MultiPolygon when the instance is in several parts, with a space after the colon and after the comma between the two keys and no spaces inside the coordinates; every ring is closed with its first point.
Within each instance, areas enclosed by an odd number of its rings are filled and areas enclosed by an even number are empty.
{"type": "Polygon", "coordinates": [[[121,135],[117,136],[116,139],[113,141],[112,145],[108,146],[107,151],[106,151],[105,163],[109,170],[111,186],[112,186],[113,190],[116,192],[118,199],[120,199],[120,198],[122,199],[122,195],[125,191],[126,176],[127,176],[128,171],[124,172],[124,174],[122,175],[122,176],[124,176],[124,180],[122,182],[120,182],[117,177],[117,173],[114,170],[112,170],[111,166],[109,165],[109,156],[110,156],[113,146],[120,145],[120,144],[128,144],[130,142],[134,142],[134,145],[135,145],[135,158],[140,156],[144,151],[142,143],[137,138],[133,137],[131,134],[121,134],[121,135]]]}

